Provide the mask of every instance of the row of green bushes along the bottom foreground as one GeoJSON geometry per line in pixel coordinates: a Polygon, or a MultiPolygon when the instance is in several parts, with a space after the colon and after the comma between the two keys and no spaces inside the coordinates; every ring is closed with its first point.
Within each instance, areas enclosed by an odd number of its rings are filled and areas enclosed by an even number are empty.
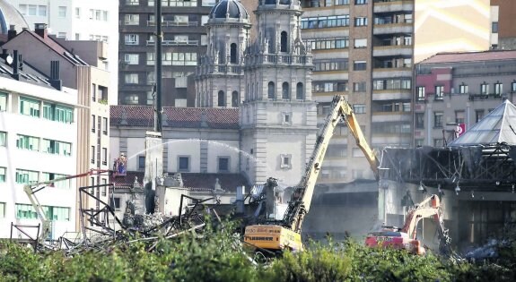
{"type": "Polygon", "coordinates": [[[454,262],[427,254],[365,248],[348,240],[310,244],[267,263],[230,232],[206,230],[162,240],[153,252],[143,243],[66,257],[34,253],[0,242],[0,281],[515,281],[512,247],[499,264],[454,262]]]}

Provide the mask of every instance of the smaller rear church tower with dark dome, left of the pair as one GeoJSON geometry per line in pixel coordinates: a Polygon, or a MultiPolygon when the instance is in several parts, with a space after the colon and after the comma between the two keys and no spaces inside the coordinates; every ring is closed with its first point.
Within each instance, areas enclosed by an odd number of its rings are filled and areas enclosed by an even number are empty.
{"type": "Polygon", "coordinates": [[[196,73],[196,107],[239,107],[249,13],[237,0],[222,0],[212,8],[206,29],[207,51],[196,73]]]}

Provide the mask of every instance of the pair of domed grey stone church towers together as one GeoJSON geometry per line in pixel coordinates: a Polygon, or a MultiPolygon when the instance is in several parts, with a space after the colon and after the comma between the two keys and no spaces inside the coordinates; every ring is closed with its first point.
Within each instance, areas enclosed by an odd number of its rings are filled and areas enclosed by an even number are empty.
{"type": "Polygon", "coordinates": [[[260,0],[258,36],[237,0],[216,4],[196,76],[197,107],[240,109],[240,170],[252,183],[275,176],[296,184],[317,133],[310,48],[302,42],[297,1],[260,0]]]}

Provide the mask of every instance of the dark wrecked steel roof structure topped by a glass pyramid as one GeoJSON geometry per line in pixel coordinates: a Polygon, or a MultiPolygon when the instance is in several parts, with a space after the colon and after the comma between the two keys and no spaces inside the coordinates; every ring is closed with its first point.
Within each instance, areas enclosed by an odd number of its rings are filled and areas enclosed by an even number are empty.
{"type": "Polygon", "coordinates": [[[516,184],[516,107],[509,101],[496,107],[448,147],[385,148],[381,178],[401,183],[456,187],[489,187],[513,191],[516,184]]]}

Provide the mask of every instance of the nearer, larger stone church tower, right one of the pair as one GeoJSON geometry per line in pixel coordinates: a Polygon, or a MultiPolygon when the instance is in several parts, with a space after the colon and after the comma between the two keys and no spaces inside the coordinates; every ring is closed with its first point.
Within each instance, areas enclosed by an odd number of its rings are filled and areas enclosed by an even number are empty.
{"type": "Polygon", "coordinates": [[[302,42],[297,0],[259,0],[257,41],[245,54],[241,171],[251,183],[297,184],[314,148],[313,64],[302,42]]]}

